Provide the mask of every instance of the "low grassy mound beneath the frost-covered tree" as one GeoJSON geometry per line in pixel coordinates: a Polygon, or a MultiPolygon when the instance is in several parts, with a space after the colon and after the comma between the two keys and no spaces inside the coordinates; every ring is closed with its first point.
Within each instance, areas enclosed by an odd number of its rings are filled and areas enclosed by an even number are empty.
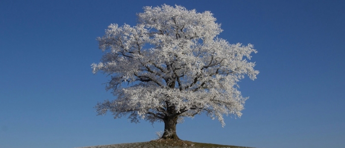
{"type": "Polygon", "coordinates": [[[160,140],[153,140],[153,141],[141,142],[141,143],[104,145],[104,146],[93,146],[93,147],[82,147],[82,148],[250,148],[250,147],[227,146],[227,145],[217,145],[217,144],[195,143],[195,142],[182,141],[182,140],[160,139],[160,140]]]}

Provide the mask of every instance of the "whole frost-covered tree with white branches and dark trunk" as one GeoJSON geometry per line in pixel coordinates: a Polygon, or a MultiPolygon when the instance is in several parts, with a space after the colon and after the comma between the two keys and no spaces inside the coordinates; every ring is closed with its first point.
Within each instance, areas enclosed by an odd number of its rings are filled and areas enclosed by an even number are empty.
{"type": "Polygon", "coordinates": [[[237,82],[259,73],[246,60],[256,53],[253,45],[218,38],[222,29],[209,11],[164,4],[137,15],[136,26],[111,24],[98,37],[108,52],[93,73],[111,75],[106,90],[117,97],[98,103],[99,114],[164,122],[164,139],[179,139],[176,124],[184,117],[206,113],[224,126],[223,115],[242,115],[247,98],[237,82]]]}

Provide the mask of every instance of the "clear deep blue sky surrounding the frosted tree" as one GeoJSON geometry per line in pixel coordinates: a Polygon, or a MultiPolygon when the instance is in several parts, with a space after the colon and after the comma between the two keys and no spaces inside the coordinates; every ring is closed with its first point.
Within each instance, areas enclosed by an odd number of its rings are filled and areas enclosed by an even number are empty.
{"type": "Polygon", "coordinates": [[[143,6],[211,11],[230,43],[252,43],[257,79],[241,118],[177,125],[183,140],[256,148],[345,148],[343,0],[1,0],[0,148],[74,148],[154,139],[163,123],[96,116],[114,99],[92,74],[96,37],[143,6]]]}

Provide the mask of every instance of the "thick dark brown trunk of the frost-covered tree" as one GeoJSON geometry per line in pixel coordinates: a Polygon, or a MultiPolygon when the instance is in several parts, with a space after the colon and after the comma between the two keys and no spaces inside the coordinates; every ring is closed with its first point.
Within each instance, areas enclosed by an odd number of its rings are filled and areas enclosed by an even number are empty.
{"type": "Polygon", "coordinates": [[[166,117],[164,119],[164,134],[162,139],[180,140],[176,134],[177,116],[166,117]]]}

